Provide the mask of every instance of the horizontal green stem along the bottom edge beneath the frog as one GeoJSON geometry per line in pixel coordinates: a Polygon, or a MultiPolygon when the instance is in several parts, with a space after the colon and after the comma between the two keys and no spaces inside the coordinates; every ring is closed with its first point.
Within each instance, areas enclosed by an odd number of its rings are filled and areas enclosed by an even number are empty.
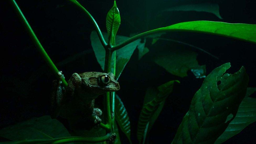
{"type": "Polygon", "coordinates": [[[58,143],[68,143],[68,142],[103,142],[109,139],[111,136],[110,133],[106,134],[102,137],[64,137],[64,138],[55,138],[51,140],[25,140],[25,141],[17,141],[14,143],[52,143],[52,144],[58,144],[58,143]]]}

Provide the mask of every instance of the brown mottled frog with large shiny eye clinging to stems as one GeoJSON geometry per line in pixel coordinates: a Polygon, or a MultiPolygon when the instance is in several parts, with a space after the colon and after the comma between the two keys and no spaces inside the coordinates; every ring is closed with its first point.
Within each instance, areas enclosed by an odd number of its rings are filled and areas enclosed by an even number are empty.
{"type": "Polygon", "coordinates": [[[114,74],[73,73],[66,88],[61,85],[64,75],[61,71],[58,74],[59,79],[52,82],[51,118],[56,119],[60,116],[67,119],[71,129],[89,130],[98,126],[101,122],[99,116],[102,115],[102,110],[94,108],[95,98],[106,92],[115,92],[120,89],[114,74]]]}

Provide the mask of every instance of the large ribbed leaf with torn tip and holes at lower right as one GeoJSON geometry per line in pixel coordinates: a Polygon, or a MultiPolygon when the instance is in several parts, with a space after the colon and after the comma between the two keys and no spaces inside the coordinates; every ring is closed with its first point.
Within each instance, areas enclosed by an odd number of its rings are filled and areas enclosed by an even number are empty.
{"type": "Polygon", "coordinates": [[[234,119],[249,78],[244,67],[234,74],[225,73],[228,68],[223,64],[205,78],[172,143],[214,143],[234,119]]]}

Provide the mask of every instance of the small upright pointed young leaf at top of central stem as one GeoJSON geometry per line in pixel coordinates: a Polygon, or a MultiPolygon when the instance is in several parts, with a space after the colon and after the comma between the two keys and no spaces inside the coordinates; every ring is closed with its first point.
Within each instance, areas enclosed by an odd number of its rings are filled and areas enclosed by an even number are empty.
{"type": "Polygon", "coordinates": [[[121,18],[119,10],[116,6],[116,1],[114,1],[114,6],[109,10],[106,17],[106,27],[108,31],[109,44],[115,44],[115,36],[120,26],[121,18]]]}

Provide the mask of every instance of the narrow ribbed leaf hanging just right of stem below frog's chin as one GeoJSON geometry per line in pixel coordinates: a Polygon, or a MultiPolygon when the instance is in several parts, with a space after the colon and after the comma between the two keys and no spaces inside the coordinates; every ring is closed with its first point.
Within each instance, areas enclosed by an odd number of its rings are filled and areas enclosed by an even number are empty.
{"type": "Polygon", "coordinates": [[[131,143],[131,125],[128,113],[125,109],[124,103],[118,95],[115,96],[115,119],[121,131],[126,135],[131,143]]]}

